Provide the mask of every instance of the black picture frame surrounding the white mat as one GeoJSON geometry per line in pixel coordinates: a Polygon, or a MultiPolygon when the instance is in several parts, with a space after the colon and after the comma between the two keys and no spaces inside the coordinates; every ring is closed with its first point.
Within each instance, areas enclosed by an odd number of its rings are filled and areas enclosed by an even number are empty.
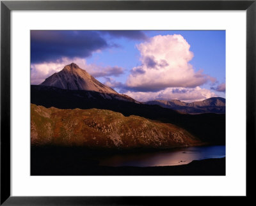
{"type": "MultiPolygon", "coordinates": [[[[255,162],[256,1],[1,1],[1,205],[161,205],[146,196],[10,196],[10,12],[12,10],[246,10],[246,197],[253,198],[255,162]]],[[[208,197],[214,203],[215,198],[208,197]]],[[[204,198],[200,202],[205,201],[204,198]]],[[[209,201],[209,200],[206,200],[209,201]]],[[[236,201],[238,199],[236,198],[236,201]]],[[[238,202],[237,202],[238,203],[238,202]]]]}

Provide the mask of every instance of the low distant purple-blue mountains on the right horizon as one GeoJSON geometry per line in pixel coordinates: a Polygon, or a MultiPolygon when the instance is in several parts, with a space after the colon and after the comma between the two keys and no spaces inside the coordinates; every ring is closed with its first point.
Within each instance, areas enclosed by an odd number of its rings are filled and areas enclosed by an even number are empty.
{"type": "Polygon", "coordinates": [[[216,97],[205,99],[204,101],[195,101],[186,103],[179,100],[154,100],[147,101],[148,105],[159,105],[164,108],[171,108],[182,113],[200,114],[200,113],[225,113],[226,99],[216,97]]]}

